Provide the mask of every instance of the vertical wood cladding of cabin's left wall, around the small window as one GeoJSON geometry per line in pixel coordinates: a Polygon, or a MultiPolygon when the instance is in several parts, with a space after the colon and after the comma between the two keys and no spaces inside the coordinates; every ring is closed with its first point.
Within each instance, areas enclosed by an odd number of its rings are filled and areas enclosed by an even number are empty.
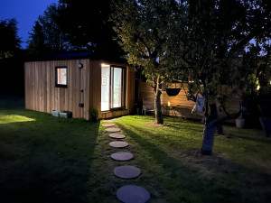
{"type": "Polygon", "coordinates": [[[73,117],[89,119],[89,60],[26,62],[24,71],[26,108],[46,113],[71,111],[73,117]],[[78,63],[84,67],[78,69],[78,63]],[[55,67],[58,66],[67,67],[68,88],[55,88],[55,67]],[[80,108],[79,103],[85,107],[80,108]]]}

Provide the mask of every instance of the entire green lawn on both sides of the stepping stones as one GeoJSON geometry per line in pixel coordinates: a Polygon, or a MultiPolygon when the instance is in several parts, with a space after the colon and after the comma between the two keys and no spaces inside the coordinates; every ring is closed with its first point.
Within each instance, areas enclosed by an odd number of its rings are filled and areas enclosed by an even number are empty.
{"type": "Polygon", "coordinates": [[[271,202],[271,139],[262,130],[225,126],[212,156],[201,156],[203,125],[128,115],[116,124],[135,159],[112,161],[100,121],[60,119],[24,109],[0,110],[0,202],[118,202],[116,191],[137,184],[150,202],[271,202]],[[119,180],[116,166],[142,175],[119,180]]]}

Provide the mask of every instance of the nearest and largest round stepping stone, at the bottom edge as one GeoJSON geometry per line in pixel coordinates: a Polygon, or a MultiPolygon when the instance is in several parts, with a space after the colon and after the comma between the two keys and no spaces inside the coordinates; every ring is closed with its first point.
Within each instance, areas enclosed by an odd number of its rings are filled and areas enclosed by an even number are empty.
{"type": "Polygon", "coordinates": [[[136,185],[126,185],[117,189],[117,198],[126,203],[145,203],[150,199],[150,193],[136,185]]]}

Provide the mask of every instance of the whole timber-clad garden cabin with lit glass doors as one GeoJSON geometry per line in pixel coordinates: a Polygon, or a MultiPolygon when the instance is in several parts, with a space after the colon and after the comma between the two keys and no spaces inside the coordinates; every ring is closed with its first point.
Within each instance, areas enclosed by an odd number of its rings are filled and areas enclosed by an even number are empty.
{"type": "Polygon", "coordinates": [[[47,60],[24,63],[25,108],[45,113],[70,111],[89,120],[128,115],[135,100],[135,72],[127,64],[104,60],[47,60]]]}

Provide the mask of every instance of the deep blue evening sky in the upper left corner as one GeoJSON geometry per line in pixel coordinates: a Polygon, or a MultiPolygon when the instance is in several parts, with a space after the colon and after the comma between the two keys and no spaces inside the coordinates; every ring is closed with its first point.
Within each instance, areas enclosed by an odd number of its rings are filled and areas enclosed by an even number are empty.
{"type": "Polygon", "coordinates": [[[26,47],[28,32],[32,32],[34,22],[43,14],[48,5],[58,0],[0,0],[0,20],[15,18],[18,22],[18,36],[26,47]]]}

